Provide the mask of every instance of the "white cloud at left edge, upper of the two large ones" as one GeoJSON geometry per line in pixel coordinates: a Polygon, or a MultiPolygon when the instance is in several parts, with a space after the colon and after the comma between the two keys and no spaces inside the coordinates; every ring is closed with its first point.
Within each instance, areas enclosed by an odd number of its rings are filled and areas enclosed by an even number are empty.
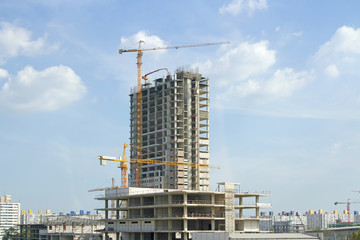
{"type": "Polygon", "coordinates": [[[36,54],[44,48],[44,39],[31,40],[31,32],[8,22],[0,22],[0,61],[18,55],[36,54]]]}

